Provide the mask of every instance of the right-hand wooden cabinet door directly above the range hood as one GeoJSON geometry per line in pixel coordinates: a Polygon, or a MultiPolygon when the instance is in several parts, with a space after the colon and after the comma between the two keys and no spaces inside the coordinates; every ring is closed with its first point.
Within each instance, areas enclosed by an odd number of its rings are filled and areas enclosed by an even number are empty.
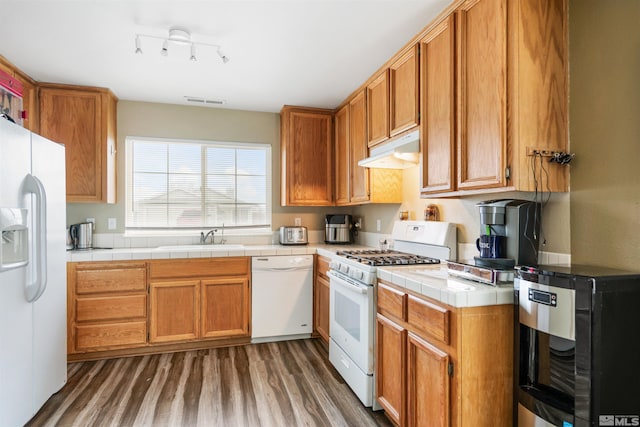
{"type": "Polygon", "coordinates": [[[389,67],[390,136],[418,125],[418,69],[418,45],[389,67]]]}

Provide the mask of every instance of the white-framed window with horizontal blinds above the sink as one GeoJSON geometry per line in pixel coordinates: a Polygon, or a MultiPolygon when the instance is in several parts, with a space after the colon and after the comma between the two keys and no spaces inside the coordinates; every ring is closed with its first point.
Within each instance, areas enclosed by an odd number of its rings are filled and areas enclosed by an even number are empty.
{"type": "Polygon", "coordinates": [[[269,144],[126,139],[126,228],[271,230],[269,144]]]}

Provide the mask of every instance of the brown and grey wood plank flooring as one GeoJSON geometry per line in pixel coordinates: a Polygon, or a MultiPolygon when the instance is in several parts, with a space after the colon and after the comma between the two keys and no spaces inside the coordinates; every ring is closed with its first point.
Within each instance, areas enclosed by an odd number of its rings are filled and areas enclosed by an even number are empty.
{"type": "Polygon", "coordinates": [[[315,339],[72,363],[34,426],[391,426],[315,339]]]}

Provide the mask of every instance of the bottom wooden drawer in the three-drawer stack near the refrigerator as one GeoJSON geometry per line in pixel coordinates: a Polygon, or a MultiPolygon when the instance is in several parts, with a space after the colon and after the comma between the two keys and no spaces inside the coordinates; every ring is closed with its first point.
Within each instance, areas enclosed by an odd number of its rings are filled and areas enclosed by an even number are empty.
{"type": "Polygon", "coordinates": [[[76,326],[76,350],[145,344],[147,322],[102,323],[76,326]]]}

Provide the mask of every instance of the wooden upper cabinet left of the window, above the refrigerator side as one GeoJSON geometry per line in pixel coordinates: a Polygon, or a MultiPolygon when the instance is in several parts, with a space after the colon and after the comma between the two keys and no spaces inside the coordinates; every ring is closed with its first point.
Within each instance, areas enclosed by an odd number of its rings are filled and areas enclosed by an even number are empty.
{"type": "Polygon", "coordinates": [[[116,98],[107,89],[42,84],[40,133],[66,148],[67,202],[116,202],[116,98]]]}

